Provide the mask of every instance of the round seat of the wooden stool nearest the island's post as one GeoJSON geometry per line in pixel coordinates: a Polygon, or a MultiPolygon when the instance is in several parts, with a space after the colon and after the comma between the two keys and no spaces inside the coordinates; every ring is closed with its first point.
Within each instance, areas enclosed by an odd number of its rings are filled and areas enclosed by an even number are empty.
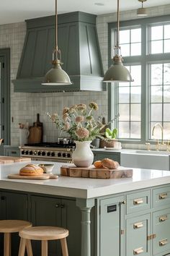
{"type": "Polygon", "coordinates": [[[55,226],[32,226],[22,229],[19,236],[31,240],[58,240],[68,236],[68,230],[55,226]]]}

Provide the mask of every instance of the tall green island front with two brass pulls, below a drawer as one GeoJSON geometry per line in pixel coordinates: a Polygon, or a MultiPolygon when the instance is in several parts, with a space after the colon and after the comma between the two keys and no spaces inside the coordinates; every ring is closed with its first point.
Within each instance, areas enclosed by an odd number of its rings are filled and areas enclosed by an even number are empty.
{"type": "Polygon", "coordinates": [[[151,214],[126,220],[126,255],[151,256],[151,214]]]}

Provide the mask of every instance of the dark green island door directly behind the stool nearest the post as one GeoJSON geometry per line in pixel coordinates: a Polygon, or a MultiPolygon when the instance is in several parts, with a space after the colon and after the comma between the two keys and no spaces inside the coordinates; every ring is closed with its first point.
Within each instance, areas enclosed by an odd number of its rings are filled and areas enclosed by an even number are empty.
{"type": "MultiPolygon", "coordinates": [[[[33,226],[61,226],[61,200],[53,197],[31,197],[31,219],[33,226]]],[[[33,255],[39,256],[40,241],[32,241],[33,255]]],[[[48,256],[61,255],[59,241],[48,242],[48,256]]]]}

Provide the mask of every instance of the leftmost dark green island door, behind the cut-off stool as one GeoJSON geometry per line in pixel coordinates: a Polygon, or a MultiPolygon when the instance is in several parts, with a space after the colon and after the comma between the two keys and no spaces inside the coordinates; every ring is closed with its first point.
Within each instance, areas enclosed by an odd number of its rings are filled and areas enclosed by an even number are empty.
{"type": "MultiPolygon", "coordinates": [[[[28,220],[27,195],[14,192],[1,192],[1,219],[28,220]]],[[[3,246],[2,246],[3,247],[3,246]]],[[[1,248],[2,248],[1,247],[1,248]]],[[[19,236],[12,234],[12,256],[18,255],[19,236]]],[[[3,255],[2,252],[0,252],[3,255]]]]}

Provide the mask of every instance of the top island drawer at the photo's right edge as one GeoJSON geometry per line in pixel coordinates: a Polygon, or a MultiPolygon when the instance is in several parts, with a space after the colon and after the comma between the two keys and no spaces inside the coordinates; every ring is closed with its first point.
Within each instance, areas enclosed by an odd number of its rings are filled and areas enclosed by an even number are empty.
{"type": "Polygon", "coordinates": [[[153,208],[170,205],[170,187],[153,189],[153,208]]]}

